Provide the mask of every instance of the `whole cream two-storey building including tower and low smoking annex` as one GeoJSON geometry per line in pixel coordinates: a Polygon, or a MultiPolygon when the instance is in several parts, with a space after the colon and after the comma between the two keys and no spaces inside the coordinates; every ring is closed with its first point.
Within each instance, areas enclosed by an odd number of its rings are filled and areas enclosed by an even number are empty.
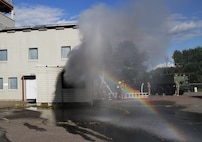
{"type": "Polygon", "coordinates": [[[67,54],[80,44],[76,25],[15,27],[9,2],[0,0],[0,101],[35,99],[49,104],[92,100],[88,90],[72,93],[62,89],[67,54]]]}

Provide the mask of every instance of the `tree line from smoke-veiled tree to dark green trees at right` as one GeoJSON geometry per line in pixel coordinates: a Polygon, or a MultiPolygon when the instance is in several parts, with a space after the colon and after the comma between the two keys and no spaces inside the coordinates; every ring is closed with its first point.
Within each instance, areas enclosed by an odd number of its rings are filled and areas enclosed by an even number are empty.
{"type": "MultiPolygon", "coordinates": [[[[148,76],[148,56],[140,52],[132,42],[122,42],[111,56],[105,58],[105,67],[119,80],[134,84],[148,76]]],[[[185,73],[190,83],[202,83],[202,46],[182,51],[175,50],[172,56],[174,67],[157,68],[152,74],[185,73]]]]}

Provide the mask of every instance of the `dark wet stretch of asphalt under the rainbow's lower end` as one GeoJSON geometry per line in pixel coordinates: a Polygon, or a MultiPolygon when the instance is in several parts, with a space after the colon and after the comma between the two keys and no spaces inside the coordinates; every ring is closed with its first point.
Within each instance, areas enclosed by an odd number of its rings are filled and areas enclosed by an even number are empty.
{"type": "Polygon", "coordinates": [[[200,100],[173,96],[165,98],[118,100],[93,108],[66,109],[64,117],[57,118],[57,121],[63,122],[60,125],[70,133],[80,134],[80,128],[87,127],[114,142],[201,141],[202,115],[184,111],[186,107],[173,101],[192,101],[192,105],[198,106],[200,100]],[[72,127],[71,124],[76,125],[72,127]]]}

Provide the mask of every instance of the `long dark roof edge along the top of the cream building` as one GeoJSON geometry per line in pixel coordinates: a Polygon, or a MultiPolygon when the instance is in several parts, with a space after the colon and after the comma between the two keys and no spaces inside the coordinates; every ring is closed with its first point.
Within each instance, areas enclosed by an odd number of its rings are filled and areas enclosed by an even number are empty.
{"type": "Polygon", "coordinates": [[[77,25],[76,24],[54,24],[54,25],[36,25],[36,26],[25,26],[25,27],[9,27],[9,28],[0,30],[0,32],[32,31],[32,30],[45,31],[47,29],[60,30],[64,28],[77,29],[77,25]]]}

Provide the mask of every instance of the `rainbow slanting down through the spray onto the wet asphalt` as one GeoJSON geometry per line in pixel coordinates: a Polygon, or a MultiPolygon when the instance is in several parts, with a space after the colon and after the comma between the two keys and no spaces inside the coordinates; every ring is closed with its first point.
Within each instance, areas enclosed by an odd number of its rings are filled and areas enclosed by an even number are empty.
{"type": "MultiPolygon", "coordinates": [[[[110,81],[110,83],[114,83],[114,85],[119,85],[122,90],[124,90],[126,93],[138,93],[139,91],[136,89],[133,89],[129,85],[120,84],[119,80],[117,80],[115,77],[113,77],[108,72],[104,71],[103,75],[105,79],[110,81]]],[[[156,110],[156,108],[150,103],[151,101],[145,98],[134,98],[140,105],[142,105],[144,108],[146,108],[147,111],[151,112],[153,115],[158,118],[159,124],[162,125],[165,131],[167,133],[167,137],[170,139],[174,139],[177,141],[185,141],[184,135],[171,123],[165,120],[161,114],[156,110]]]]}

